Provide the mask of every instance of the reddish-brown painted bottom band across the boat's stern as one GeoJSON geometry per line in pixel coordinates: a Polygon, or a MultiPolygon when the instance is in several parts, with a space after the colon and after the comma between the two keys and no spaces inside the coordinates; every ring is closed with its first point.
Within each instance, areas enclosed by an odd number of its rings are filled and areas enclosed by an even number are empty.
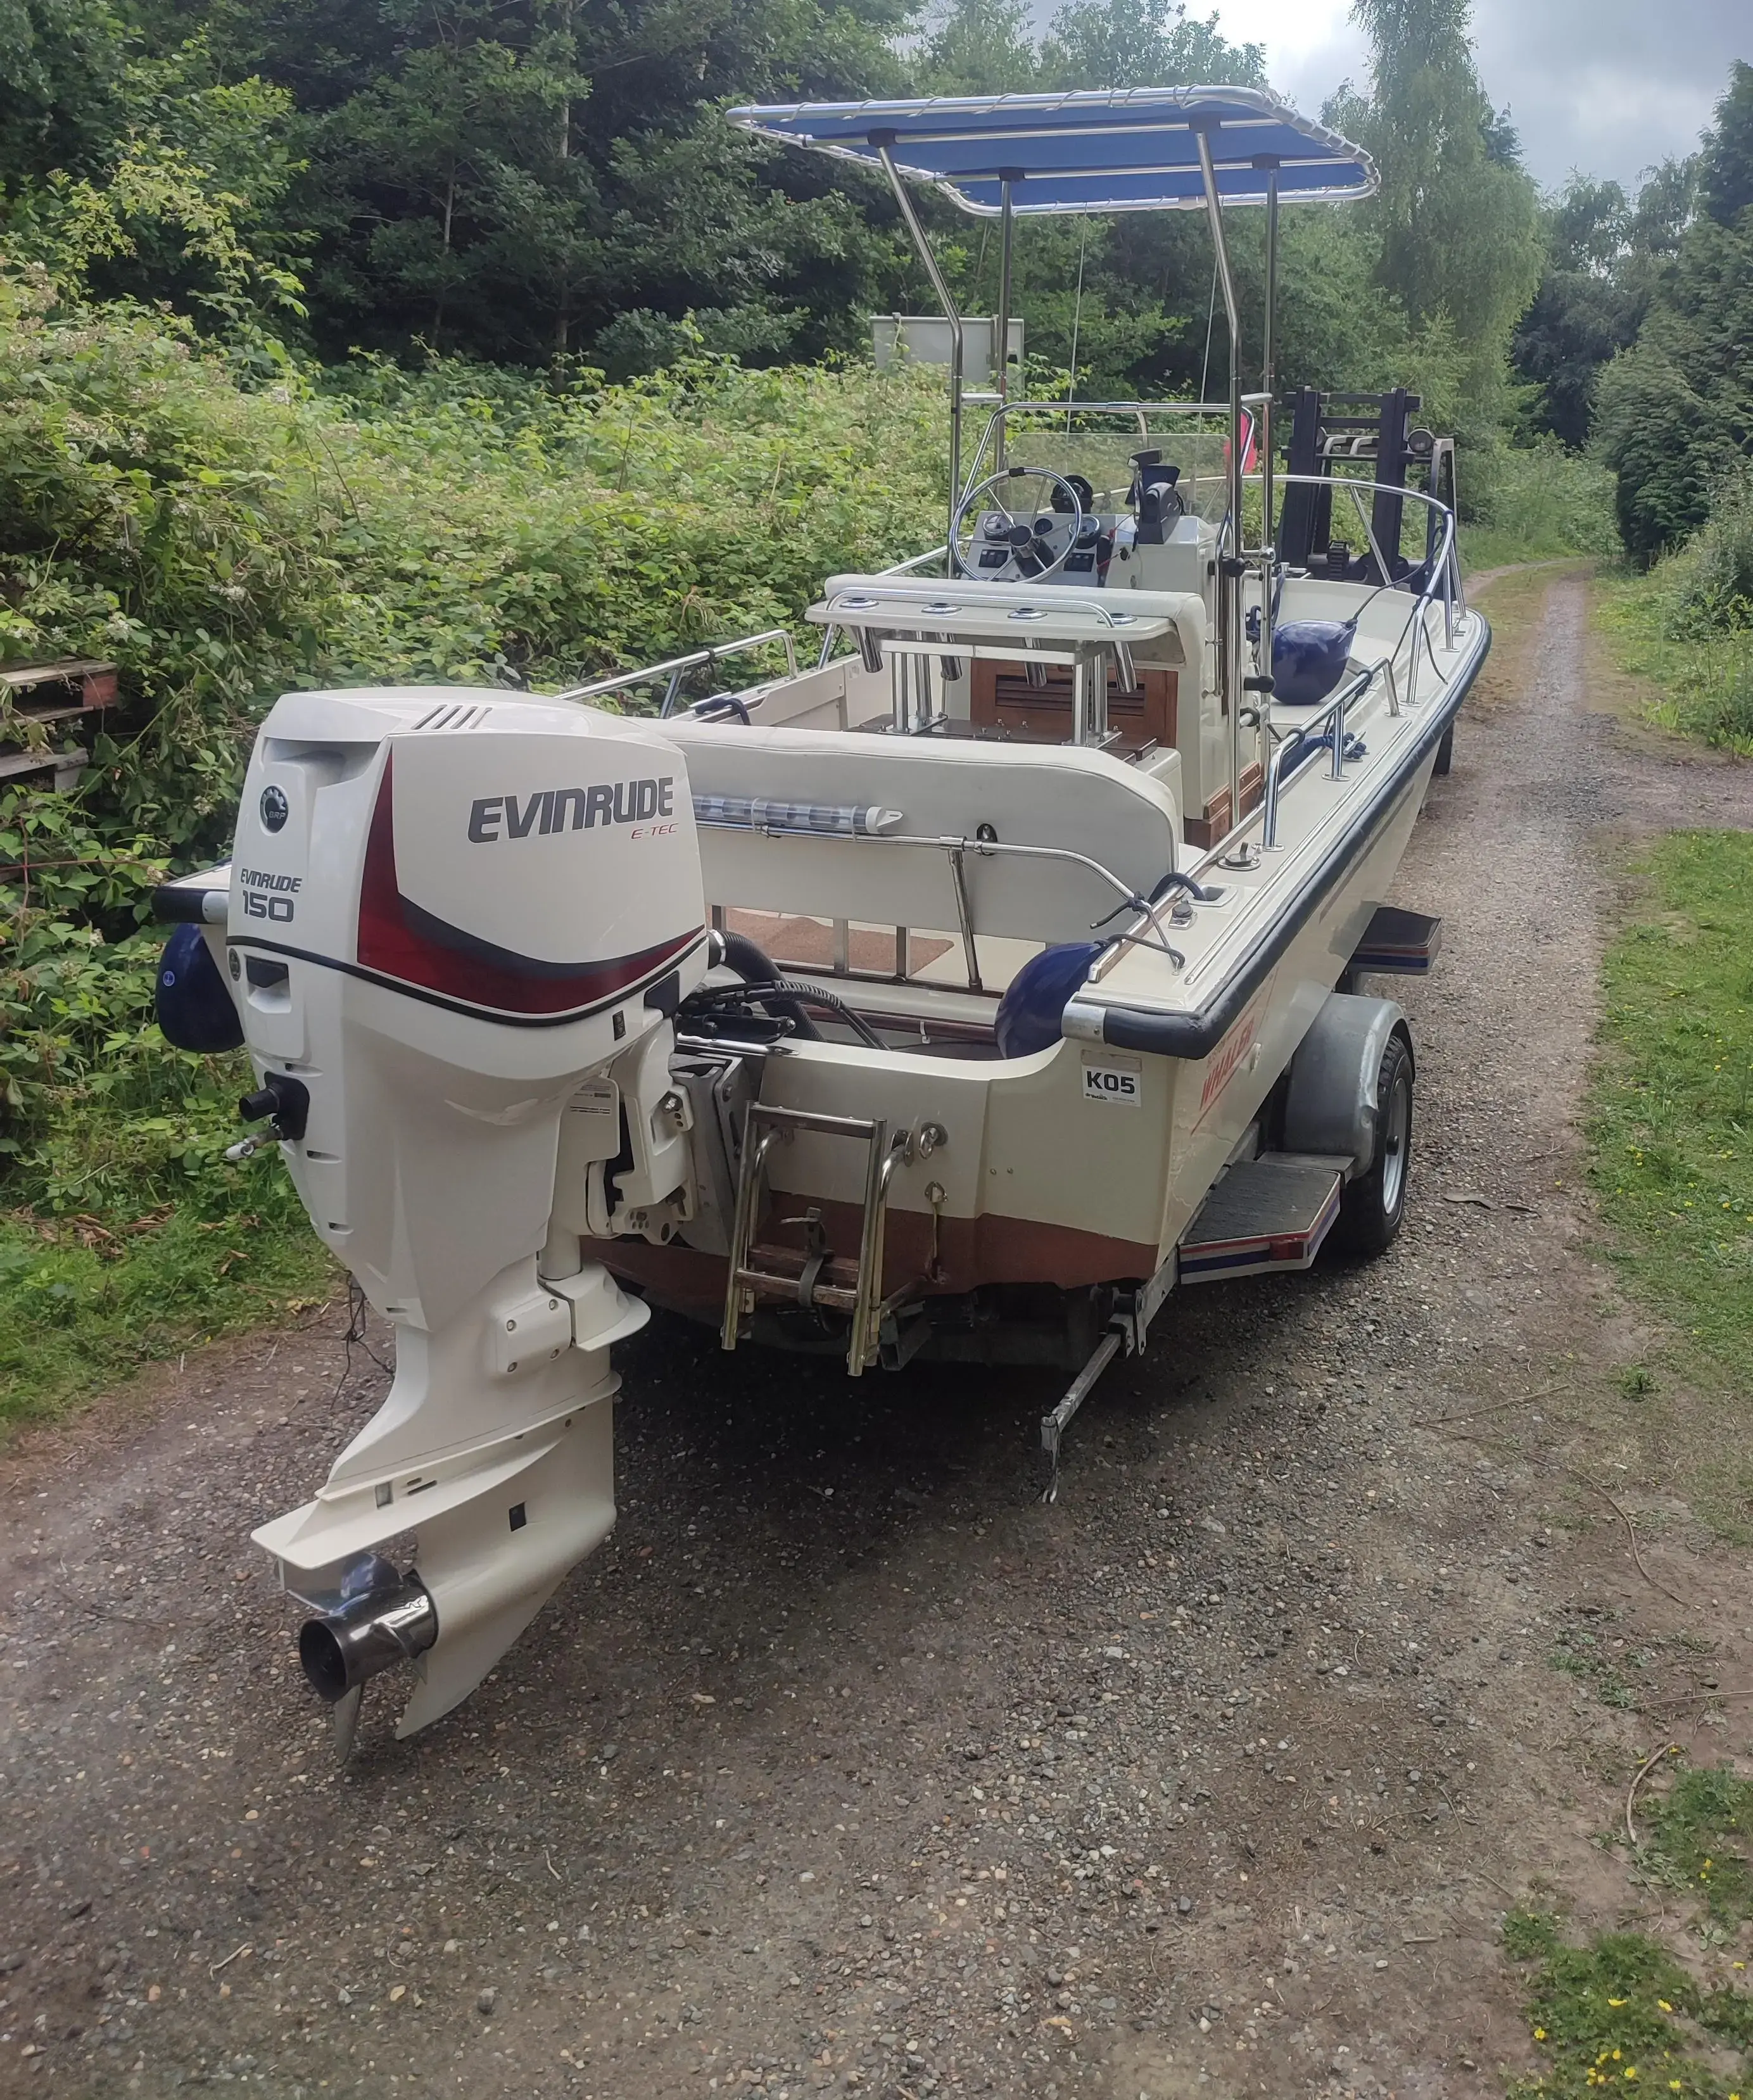
{"type": "MultiPolygon", "coordinates": [[[[789,1205],[804,1199],[785,1195],[789,1205]]],[[[836,1254],[857,1260],[859,1210],[852,1203],[819,1203],[821,1222],[836,1254]]],[[[775,1220],[762,1228],[768,1245],[802,1247],[800,1226],[775,1220]]],[[[600,1260],[626,1283],[636,1283],[655,1304],[676,1312],[712,1317],[724,1310],[724,1256],[695,1247],[653,1247],[642,1239],[615,1239],[600,1260]]],[[[1134,1283],[1157,1270],[1157,1250],[1142,1241],[1079,1233],[1066,1224],[1035,1224],[1031,1218],[945,1218],[938,1226],[936,1273],[932,1275],[932,1220],[917,1212],[890,1212],[884,1235],[884,1294],[915,1283],[922,1296],[959,1296],[989,1283],[1050,1283],[1083,1289],[1092,1283],[1134,1283]]]]}

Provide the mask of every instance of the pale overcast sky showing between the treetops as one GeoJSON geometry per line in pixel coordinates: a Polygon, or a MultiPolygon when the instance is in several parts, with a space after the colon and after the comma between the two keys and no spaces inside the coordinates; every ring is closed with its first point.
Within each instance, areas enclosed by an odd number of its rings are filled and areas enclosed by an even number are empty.
{"type": "MultiPolygon", "coordinates": [[[[1188,13],[1205,13],[1195,0],[1188,13]]],[[[1314,116],[1365,42],[1350,0],[1220,0],[1234,42],[1266,46],[1272,86],[1314,116]]],[[[1650,164],[1690,153],[1728,82],[1753,61],[1749,0],[1474,0],[1484,88],[1507,103],[1535,178],[1572,168],[1635,187],[1650,164]]]]}

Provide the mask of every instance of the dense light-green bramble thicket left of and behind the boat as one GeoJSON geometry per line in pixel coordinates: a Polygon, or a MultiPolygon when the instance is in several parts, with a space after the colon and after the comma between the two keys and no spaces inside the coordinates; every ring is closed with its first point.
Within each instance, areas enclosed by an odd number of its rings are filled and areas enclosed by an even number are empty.
{"type": "MultiPolygon", "coordinates": [[[[17,277],[0,302],[0,647],[113,657],[128,695],[78,796],[0,798],[15,1147],[141,1031],[145,892],[223,846],[277,693],[558,687],[796,624],[823,573],[917,552],[943,506],[915,374],[697,357],[554,391],[367,363],[349,391],[246,391],[145,313],[46,311],[17,277]]],[[[46,1168],[19,1176],[59,1201],[46,1168]]]]}

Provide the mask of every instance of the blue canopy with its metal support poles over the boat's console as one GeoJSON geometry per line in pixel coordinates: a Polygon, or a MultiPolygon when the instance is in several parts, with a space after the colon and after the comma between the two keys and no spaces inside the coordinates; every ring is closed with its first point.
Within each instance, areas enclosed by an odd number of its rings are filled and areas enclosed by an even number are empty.
{"type": "MultiPolygon", "coordinates": [[[[930,183],[964,212],[995,214],[999,311],[993,340],[1010,340],[1012,229],[1020,216],[1174,212],[1203,206],[1230,332],[1228,514],[1218,563],[1218,685],[1230,724],[1230,811],[1241,815],[1243,693],[1272,691],[1272,309],[1279,290],[1279,204],[1344,204],[1377,189],[1375,164],[1323,124],[1260,88],[1102,88],[1069,94],[962,94],[884,103],[758,103],[731,109],[743,130],[882,168],[949,321],[949,533],[962,504],[962,315],[913,208],[907,183],[930,183]],[[1266,326],[1260,376],[1262,533],[1243,544],[1241,311],[1224,237],[1230,206],[1266,206],[1266,326]],[[1245,676],[1245,569],[1260,575],[1262,638],[1245,676]]],[[[993,464],[1004,468],[1010,361],[997,361],[993,464]]],[[[949,550],[945,552],[949,567],[949,550]]],[[[1260,764],[1270,764],[1264,706],[1251,710],[1260,764]]]]}

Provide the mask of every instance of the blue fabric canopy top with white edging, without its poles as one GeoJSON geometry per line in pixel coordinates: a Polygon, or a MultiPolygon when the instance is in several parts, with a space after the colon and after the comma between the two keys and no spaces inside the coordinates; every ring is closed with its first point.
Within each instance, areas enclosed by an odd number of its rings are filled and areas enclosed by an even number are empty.
{"type": "Polygon", "coordinates": [[[1375,162],[1262,88],[1102,88],[1075,94],[959,94],[892,103],[758,103],[733,124],[934,183],[964,212],[1174,212],[1205,204],[1199,132],[1224,204],[1264,204],[1268,176],[1289,202],[1375,195],[1375,162]]]}

